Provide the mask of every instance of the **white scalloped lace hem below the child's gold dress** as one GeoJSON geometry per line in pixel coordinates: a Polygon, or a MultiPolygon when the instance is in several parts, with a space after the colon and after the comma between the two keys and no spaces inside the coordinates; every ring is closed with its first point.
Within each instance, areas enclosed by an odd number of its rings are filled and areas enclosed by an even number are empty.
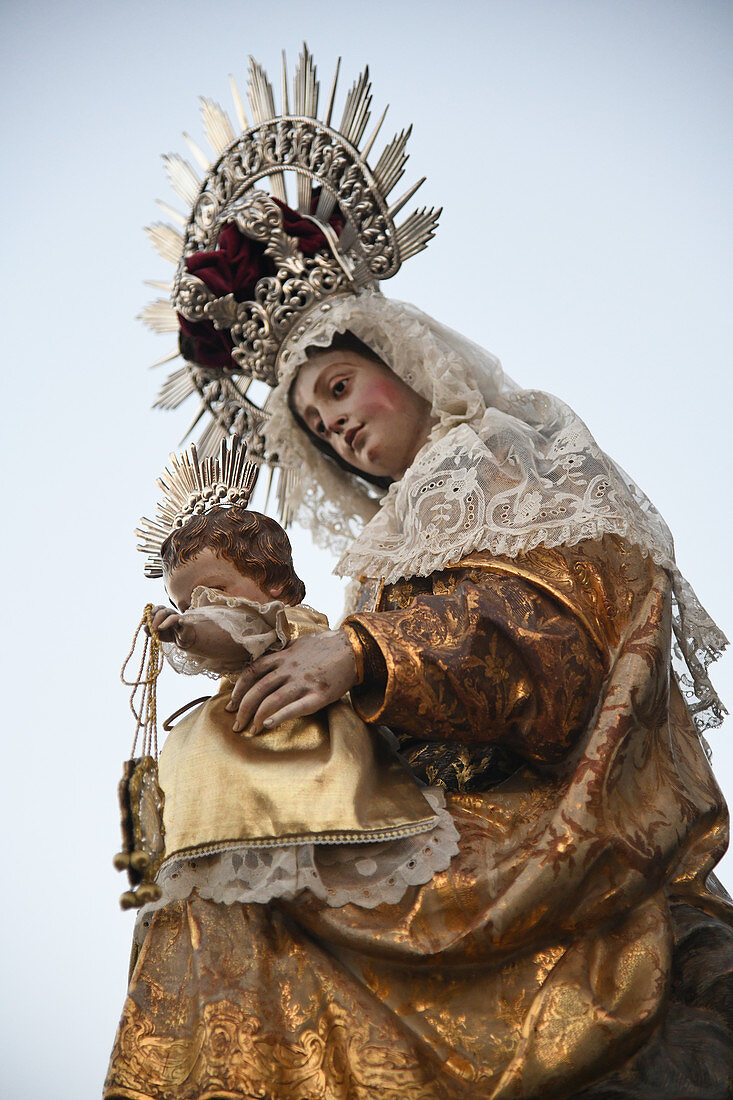
{"type": "Polygon", "coordinates": [[[194,891],[225,905],[264,904],[277,898],[291,901],[303,890],[332,908],[396,904],[408,887],[423,886],[445,871],[458,853],[459,834],[442,791],[426,788],[423,794],[436,813],[436,824],[419,836],[368,844],[237,848],[168,860],[157,876],[161,899],[140,910],[138,941],[144,937],[155,910],[184,901],[194,891]]]}

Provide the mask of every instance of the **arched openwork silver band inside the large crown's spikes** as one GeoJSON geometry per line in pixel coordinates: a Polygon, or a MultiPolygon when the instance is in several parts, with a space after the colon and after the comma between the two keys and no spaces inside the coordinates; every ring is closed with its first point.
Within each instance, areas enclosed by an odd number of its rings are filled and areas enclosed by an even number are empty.
{"type": "MultiPolygon", "coordinates": [[[[317,119],[286,116],[245,131],[206,179],[186,231],[184,254],[215,246],[226,221],[239,222],[244,194],[273,172],[289,168],[335,197],[351,222],[370,274],[390,278],[400,267],[395,228],[376,179],[353,145],[317,119]]],[[[251,235],[248,233],[248,235],[251,235]]],[[[255,238],[262,239],[262,238],[255,238]]]]}

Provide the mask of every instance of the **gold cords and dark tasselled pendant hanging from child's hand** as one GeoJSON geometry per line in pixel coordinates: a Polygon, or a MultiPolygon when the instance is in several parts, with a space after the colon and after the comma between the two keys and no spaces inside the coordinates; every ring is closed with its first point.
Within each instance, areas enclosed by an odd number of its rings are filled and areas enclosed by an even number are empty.
{"type": "Polygon", "coordinates": [[[155,689],[163,667],[161,641],[152,624],[153,605],[147,604],[135,630],[120,679],[132,688],[130,710],[135,719],[130,759],[122,766],[118,788],[122,825],[122,850],[114,856],[118,871],[127,871],[130,890],[120,898],[122,909],[138,909],[161,897],[155,876],[165,855],[163,792],[157,782],[157,712],[155,689]],[[128,666],[138,640],[144,638],[138,674],[128,680],[128,666]],[[140,756],[138,746],[140,743],[140,756]]]}

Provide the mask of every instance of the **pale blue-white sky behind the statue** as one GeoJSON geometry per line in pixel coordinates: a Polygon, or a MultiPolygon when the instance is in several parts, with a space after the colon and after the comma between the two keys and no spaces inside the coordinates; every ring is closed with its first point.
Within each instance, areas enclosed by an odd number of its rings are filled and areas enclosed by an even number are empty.
{"type": "MultiPolygon", "coordinates": [[[[306,38],[327,95],[364,63],[436,240],[385,285],[569,402],[666,516],[729,634],[733,6],[650,0],[4,2],[2,241],[10,435],[2,540],[0,1090],[99,1093],[125,990],[118,670],[143,604],[132,529],[186,427],[151,411],[171,346],[135,321],[167,268],[141,227],[160,154],[201,139],[252,53],[278,87],[306,38]]],[[[342,103],[342,98],[339,100],[342,103]]],[[[380,146],[381,147],[381,146],[380,146]]],[[[295,538],[309,602],[331,561],[295,538]]],[[[716,669],[733,703],[731,659],[716,669]]],[[[200,694],[171,671],[165,713],[200,694]],[[172,683],[172,681],[175,681],[172,683]]],[[[729,724],[730,725],[730,724],[729,724]]],[[[733,726],[713,733],[733,796],[733,726]]],[[[733,860],[721,877],[733,887],[733,860]]]]}

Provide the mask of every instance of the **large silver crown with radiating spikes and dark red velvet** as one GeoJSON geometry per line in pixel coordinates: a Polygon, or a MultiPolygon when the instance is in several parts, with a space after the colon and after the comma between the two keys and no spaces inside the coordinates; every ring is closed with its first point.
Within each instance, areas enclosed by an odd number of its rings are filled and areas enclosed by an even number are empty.
{"type": "Polygon", "coordinates": [[[321,121],[316,67],[306,46],[295,70],[292,111],[283,55],[281,114],[264,69],[251,59],[252,124],[230,78],[243,132],[237,136],[222,108],[203,99],[214,163],[186,134],[203,179],[183,157],[165,157],[190,216],[160,204],[180,228],[156,223],[149,232],[176,271],[169,287],[153,284],[169,298],[152,302],[142,316],[156,331],[180,327],[184,332],[184,365],[164,383],[155,404],[175,408],[198,393],[192,428],[207,413],[211,417],[199,441],[201,454],[216,451],[219,440],[232,433],[245,438],[250,457],[261,461],[266,403],[248,396],[251,383],[274,386],[283,345],[291,333],[306,331],[314,311],[329,308],[336,296],[375,289],[435,233],[440,210],[414,210],[400,226],[395,222],[424,178],[387,202],[405,170],[412,128],[387,143],[373,168],[368,164],[386,114],[385,109],[362,145],[372,101],[368,68],[351,87],[338,128],[331,124],[339,67],[340,62],[321,121]],[[295,178],[296,209],[288,207],[287,176],[295,178]],[[264,180],[272,194],[255,188],[264,180]]]}

